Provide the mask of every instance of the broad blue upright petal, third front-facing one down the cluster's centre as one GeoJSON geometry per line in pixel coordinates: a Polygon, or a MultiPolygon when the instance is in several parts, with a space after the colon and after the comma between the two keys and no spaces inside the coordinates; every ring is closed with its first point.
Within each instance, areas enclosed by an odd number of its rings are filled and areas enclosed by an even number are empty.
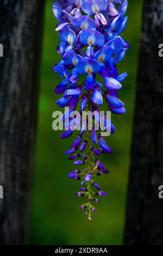
{"type": "Polygon", "coordinates": [[[80,34],[79,41],[83,45],[98,45],[101,47],[104,44],[104,36],[95,28],[85,29],[80,34]]]}

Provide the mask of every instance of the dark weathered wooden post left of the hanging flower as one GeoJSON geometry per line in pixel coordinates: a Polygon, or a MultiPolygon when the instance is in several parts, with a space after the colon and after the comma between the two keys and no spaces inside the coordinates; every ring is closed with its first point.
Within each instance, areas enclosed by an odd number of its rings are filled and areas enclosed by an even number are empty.
{"type": "Polygon", "coordinates": [[[1,0],[0,244],[28,243],[43,0],[1,0]]]}

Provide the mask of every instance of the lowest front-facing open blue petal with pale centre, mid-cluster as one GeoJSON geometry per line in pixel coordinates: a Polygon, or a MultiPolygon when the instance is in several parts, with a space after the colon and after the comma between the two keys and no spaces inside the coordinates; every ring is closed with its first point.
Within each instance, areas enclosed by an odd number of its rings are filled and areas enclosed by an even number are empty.
{"type": "Polygon", "coordinates": [[[100,66],[95,59],[82,58],[79,60],[76,66],[79,74],[92,74],[98,73],[100,70],[100,66]]]}

